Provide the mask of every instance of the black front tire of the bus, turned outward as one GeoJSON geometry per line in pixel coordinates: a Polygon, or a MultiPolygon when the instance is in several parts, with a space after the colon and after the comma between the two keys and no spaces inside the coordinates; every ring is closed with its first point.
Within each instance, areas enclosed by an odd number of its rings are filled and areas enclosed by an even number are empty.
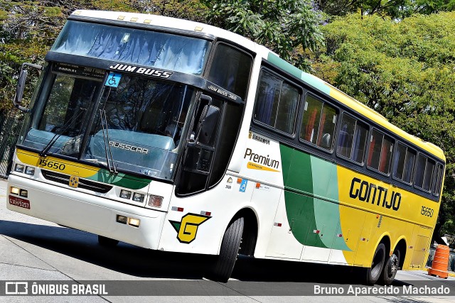
{"type": "Polygon", "coordinates": [[[228,282],[237,260],[237,253],[242,241],[243,226],[244,219],[242,217],[231,222],[228,229],[226,229],[221,242],[220,255],[218,255],[213,268],[213,280],[228,282]]]}

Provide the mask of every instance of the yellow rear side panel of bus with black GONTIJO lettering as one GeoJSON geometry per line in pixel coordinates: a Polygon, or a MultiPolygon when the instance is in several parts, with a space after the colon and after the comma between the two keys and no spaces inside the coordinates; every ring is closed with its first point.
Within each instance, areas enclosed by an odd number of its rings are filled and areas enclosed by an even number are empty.
{"type": "Polygon", "coordinates": [[[398,241],[404,238],[407,246],[406,255],[402,255],[404,266],[422,268],[422,258],[427,254],[428,238],[432,233],[429,226],[434,225],[434,218],[432,212],[422,214],[421,209],[434,209],[437,213],[439,204],[346,167],[338,166],[338,180],[340,203],[343,204],[341,227],[347,243],[353,229],[361,231],[358,246],[351,246],[351,243],[348,246],[353,251],[343,251],[348,263],[368,267],[380,241],[390,241],[390,251],[386,252],[390,255],[398,241]],[[414,249],[409,249],[410,246],[414,249]],[[419,252],[411,258],[417,246],[419,252]]]}

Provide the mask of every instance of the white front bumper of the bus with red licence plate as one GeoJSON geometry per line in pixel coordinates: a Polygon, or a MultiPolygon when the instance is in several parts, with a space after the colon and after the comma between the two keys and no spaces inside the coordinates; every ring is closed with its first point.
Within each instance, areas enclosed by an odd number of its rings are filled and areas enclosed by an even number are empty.
{"type": "Polygon", "coordinates": [[[9,175],[7,193],[6,206],[11,211],[136,246],[158,249],[166,217],[164,211],[123,204],[17,175],[9,175]],[[28,197],[11,194],[11,187],[25,189],[28,197]],[[127,223],[117,222],[117,216],[127,217],[127,223]],[[139,226],[131,225],[129,218],[139,219],[139,226]]]}

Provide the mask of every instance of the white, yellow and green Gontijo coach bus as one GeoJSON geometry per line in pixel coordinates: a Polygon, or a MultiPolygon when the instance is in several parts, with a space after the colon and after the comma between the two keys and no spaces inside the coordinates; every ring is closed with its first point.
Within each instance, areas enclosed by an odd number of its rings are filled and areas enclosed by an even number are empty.
{"type": "MultiPolygon", "coordinates": [[[[41,76],[21,106],[25,67],[41,76]]],[[[445,157],[220,28],[75,11],[26,111],[8,209],[143,248],[363,268],[424,267],[445,157]],[[240,243],[242,245],[240,246],[240,243]]]]}

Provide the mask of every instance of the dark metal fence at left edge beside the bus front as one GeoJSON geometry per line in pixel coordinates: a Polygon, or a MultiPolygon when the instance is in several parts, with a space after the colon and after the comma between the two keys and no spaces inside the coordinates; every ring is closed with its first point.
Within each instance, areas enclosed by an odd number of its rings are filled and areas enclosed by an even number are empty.
{"type": "Polygon", "coordinates": [[[0,111],[0,177],[7,178],[11,170],[19,132],[23,122],[23,114],[16,110],[0,111]]]}

